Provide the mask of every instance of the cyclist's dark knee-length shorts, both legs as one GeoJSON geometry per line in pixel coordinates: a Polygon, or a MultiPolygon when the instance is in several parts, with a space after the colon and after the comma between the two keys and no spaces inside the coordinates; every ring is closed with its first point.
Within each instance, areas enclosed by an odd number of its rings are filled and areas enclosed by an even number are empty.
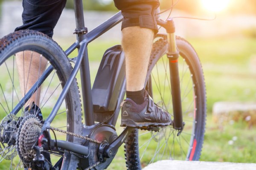
{"type": "MultiPolygon", "coordinates": [[[[53,28],[66,2],[67,0],[23,0],[23,25],[17,27],[15,31],[32,29],[52,37],[53,28]]],[[[114,0],[114,2],[124,16],[122,28],[140,26],[158,31],[155,12],[159,6],[158,0],[114,0]]]]}

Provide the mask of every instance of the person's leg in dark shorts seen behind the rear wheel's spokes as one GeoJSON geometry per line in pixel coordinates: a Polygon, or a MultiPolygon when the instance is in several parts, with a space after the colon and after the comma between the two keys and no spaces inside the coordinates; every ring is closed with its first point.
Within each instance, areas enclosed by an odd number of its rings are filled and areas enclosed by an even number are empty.
{"type": "MultiPolygon", "coordinates": [[[[61,12],[67,0],[23,0],[23,25],[17,27],[15,31],[22,29],[32,29],[41,31],[49,37],[53,35],[55,27],[61,12]]],[[[38,76],[44,71],[47,60],[39,54],[31,51],[20,52],[16,55],[17,71],[19,73],[20,88],[22,94],[25,94],[32,85],[35,84],[38,76]]],[[[35,102],[39,106],[40,88],[31,97],[26,106],[35,102]]]]}

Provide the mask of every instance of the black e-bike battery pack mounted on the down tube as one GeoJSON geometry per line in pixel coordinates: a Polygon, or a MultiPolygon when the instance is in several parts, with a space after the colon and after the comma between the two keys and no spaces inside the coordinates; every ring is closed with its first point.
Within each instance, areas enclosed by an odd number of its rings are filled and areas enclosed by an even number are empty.
{"type": "Polygon", "coordinates": [[[124,79],[125,55],[121,45],[115,45],[105,51],[92,88],[96,122],[102,122],[113,114],[124,79]]]}

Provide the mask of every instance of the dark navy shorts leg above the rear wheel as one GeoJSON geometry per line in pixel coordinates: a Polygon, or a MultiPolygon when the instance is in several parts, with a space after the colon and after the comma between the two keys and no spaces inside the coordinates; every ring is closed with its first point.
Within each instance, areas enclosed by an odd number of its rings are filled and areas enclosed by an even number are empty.
{"type": "Polygon", "coordinates": [[[15,31],[32,29],[52,37],[53,28],[66,2],[67,0],[23,0],[23,25],[17,27],[15,31]]]}

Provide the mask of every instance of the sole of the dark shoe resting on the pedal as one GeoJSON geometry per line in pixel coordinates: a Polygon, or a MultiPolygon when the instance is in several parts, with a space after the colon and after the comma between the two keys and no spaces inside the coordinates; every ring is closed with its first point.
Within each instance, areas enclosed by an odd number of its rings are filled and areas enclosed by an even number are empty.
{"type": "Polygon", "coordinates": [[[161,127],[161,126],[169,126],[172,125],[172,122],[166,122],[166,123],[155,123],[155,122],[134,122],[131,119],[126,119],[125,121],[121,121],[122,127],[161,127]]]}

